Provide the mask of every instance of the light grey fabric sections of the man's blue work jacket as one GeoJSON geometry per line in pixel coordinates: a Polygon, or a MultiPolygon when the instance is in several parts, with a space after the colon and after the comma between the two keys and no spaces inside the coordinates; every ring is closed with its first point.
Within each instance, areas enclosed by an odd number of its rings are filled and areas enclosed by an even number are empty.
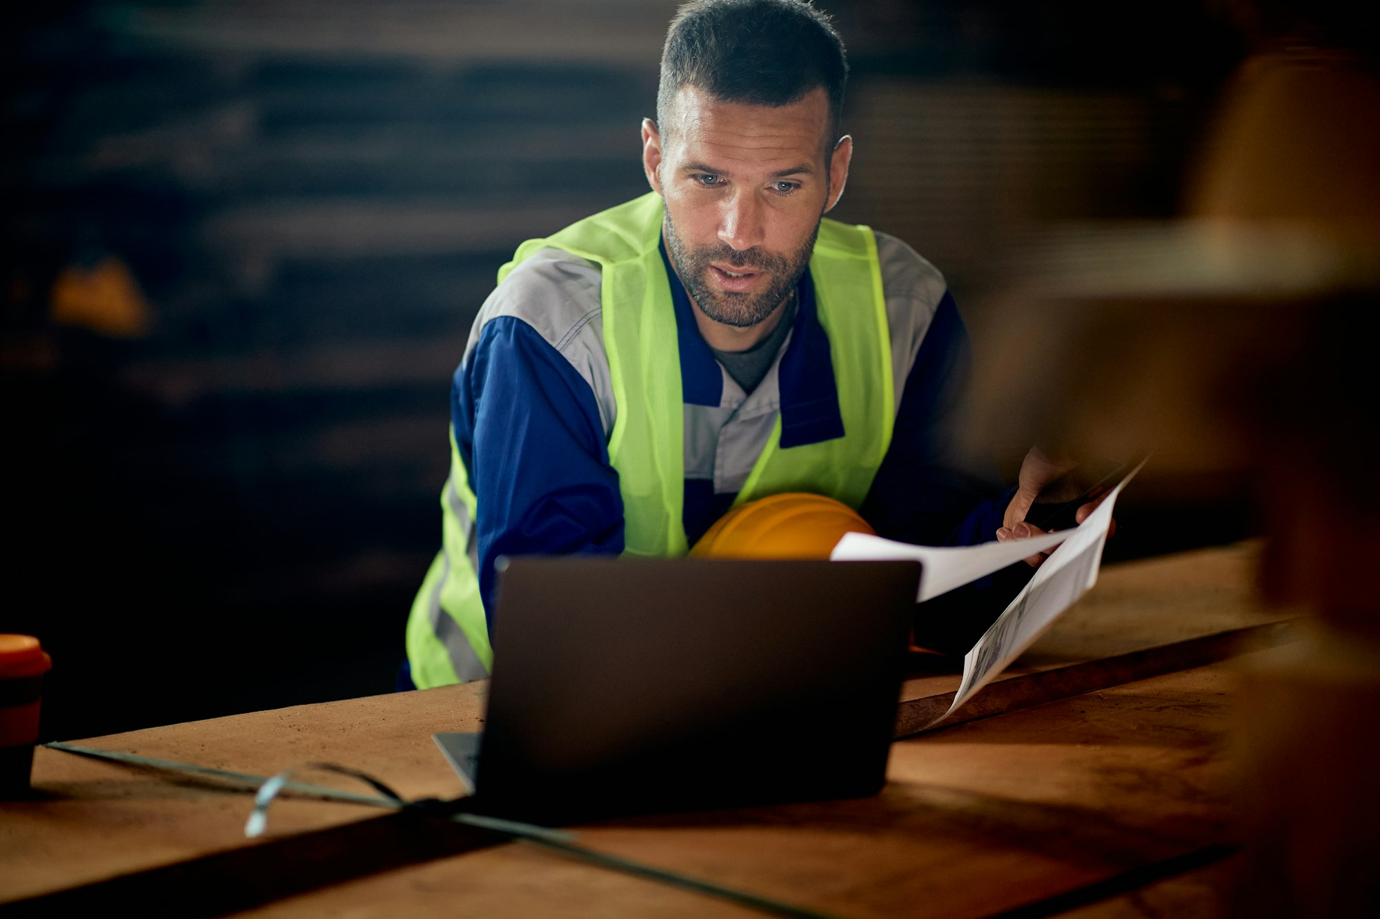
{"type": "MultiPolygon", "coordinates": [[[[896,406],[900,407],[905,379],[944,297],[945,283],[933,265],[894,236],[876,233],[876,250],[891,335],[896,406]]],[[[603,349],[599,266],[555,248],[535,253],[484,301],[469,335],[466,360],[484,323],[498,316],[523,320],[570,362],[595,395],[607,437],[618,407],[603,349]]],[[[782,352],[789,341],[788,335],[782,352]]],[[[720,367],[723,395],[719,404],[684,407],[686,477],[712,479],[719,494],[742,490],[758,455],[766,448],[781,407],[778,367],[780,355],[751,393],[744,393],[720,367]]]]}

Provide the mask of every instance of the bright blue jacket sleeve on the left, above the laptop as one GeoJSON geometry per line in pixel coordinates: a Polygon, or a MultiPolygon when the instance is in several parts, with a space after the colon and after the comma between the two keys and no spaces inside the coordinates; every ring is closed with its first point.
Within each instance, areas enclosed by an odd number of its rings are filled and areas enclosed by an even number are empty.
{"type": "Polygon", "coordinates": [[[622,498],[589,384],[522,319],[498,316],[455,371],[451,424],[476,495],[476,567],[494,622],[500,556],[622,552],[622,498]]]}

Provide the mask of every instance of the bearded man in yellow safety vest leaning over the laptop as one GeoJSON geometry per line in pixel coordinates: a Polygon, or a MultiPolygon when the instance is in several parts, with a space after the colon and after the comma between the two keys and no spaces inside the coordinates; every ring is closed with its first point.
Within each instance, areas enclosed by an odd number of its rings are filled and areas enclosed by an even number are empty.
{"type": "Polygon", "coordinates": [[[471,331],[444,548],[407,628],[417,686],[487,676],[502,555],[680,555],[782,491],[912,542],[1024,534],[1018,505],[1063,468],[1027,464],[1010,501],[949,460],[967,342],[943,276],[821,219],[853,157],[846,76],[806,3],[676,15],[642,124],[651,192],[524,243],[471,331]]]}

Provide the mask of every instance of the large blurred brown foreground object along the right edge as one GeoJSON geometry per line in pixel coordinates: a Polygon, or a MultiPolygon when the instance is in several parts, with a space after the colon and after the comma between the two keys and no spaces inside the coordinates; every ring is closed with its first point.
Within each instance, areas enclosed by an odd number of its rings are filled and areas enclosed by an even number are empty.
{"type": "Polygon", "coordinates": [[[1380,77],[1340,52],[1252,61],[1192,189],[1190,219],[1032,253],[994,313],[976,435],[1254,480],[1263,586],[1317,635],[1245,694],[1234,912],[1380,915],[1380,77]]]}

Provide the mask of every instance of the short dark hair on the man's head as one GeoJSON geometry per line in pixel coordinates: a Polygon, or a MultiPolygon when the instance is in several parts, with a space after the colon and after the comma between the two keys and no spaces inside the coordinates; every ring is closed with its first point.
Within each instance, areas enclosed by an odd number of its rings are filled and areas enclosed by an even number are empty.
{"type": "Polygon", "coordinates": [[[849,63],[829,17],[805,0],[694,0],[676,11],[661,51],[657,124],[686,86],[724,102],[791,105],[822,87],[825,159],[842,137],[849,63]]]}

